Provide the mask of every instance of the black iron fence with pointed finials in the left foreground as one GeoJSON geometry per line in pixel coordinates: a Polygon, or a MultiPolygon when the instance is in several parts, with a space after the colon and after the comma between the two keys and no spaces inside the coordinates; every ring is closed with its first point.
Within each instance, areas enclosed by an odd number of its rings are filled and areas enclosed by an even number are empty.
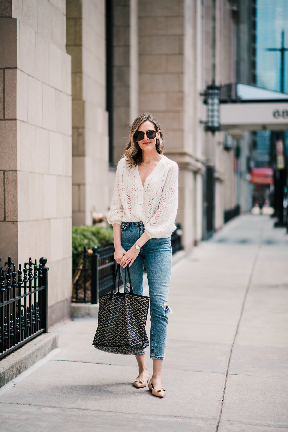
{"type": "Polygon", "coordinates": [[[47,333],[46,263],[45,257],[40,258],[38,266],[36,260],[32,263],[29,258],[23,272],[21,264],[16,272],[9,257],[4,267],[0,267],[0,359],[39,334],[47,333]]]}

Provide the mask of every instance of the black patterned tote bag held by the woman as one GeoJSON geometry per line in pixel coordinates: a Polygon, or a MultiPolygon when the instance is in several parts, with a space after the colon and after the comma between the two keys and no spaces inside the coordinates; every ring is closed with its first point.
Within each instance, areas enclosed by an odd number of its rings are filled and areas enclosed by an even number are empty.
{"type": "Polygon", "coordinates": [[[149,346],[145,330],[149,297],[133,293],[129,267],[125,268],[124,286],[126,286],[126,269],[130,292],[119,292],[120,264],[118,264],[110,294],[102,295],[99,299],[98,327],[93,346],[107,353],[137,355],[149,346]],[[114,294],[117,273],[118,290],[114,294]]]}

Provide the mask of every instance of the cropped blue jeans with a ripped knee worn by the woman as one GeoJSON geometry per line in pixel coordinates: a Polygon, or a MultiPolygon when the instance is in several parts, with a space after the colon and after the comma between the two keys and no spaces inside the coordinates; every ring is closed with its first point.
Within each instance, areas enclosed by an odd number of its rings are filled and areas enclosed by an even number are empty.
{"type": "MultiPolygon", "coordinates": [[[[145,231],[142,222],[123,222],[121,225],[121,245],[128,251],[145,231]]],[[[171,237],[150,238],[142,247],[138,257],[129,267],[133,292],[143,295],[143,268],[144,261],[149,285],[150,296],[150,358],[164,359],[168,312],[168,291],[171,276],[171,237]],[[167,305],[167,307],[166,307],[167,305]]],[[[125,269],[121,267],[124,281],[125,269]]],[[[128,276],[126,274],[126,285],[128,276]]],[[[138,354],[144,354],[145,350],[138,354]]]]}

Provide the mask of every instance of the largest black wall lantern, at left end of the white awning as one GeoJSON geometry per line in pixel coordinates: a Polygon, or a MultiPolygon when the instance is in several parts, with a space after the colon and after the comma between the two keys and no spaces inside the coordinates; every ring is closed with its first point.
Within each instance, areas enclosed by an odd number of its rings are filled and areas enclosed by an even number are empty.
{"type": "Polygon", "coordinates": [[[220,130],[220,87],[216,86],[213,80],[201,95],[204,96],[203,102],[206,104],[205,129],[214,135],[216,130],[220,130]]]}

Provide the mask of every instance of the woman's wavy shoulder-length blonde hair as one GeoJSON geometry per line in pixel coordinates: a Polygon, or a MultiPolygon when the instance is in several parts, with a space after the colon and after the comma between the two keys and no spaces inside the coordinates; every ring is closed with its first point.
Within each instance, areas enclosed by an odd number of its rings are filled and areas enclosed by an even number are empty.
{"type": "Polygon", "coordinates": [[[137,132],[139,127],[141,126],[144,121],[151,121],[151,123],[154,124],[156,132],[160,130],[160,137],[156,140],[156,150],[159,153],[159,155],[163,154],[164,151],[164,135],[162,132],[162,129],[160,127],[159,122],[155,119],[152,114],[145,113],[140,114],[134,121],[130,129],[129,133],[129,141],[126,146],[126,154],[124,154],[124,157],[126,158],[127,162],[130,163],[131,168],[135,167],[136,165],[141,164],[143,162],[142,157],[142,150],[139,147],[139,144],[134,138],[134,133],[137,132]]]}

